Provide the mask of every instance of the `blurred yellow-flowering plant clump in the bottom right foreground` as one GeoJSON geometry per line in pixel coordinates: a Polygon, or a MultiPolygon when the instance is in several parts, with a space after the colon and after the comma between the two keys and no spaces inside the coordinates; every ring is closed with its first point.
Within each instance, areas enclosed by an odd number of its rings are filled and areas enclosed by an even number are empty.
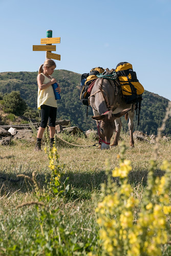
{"type": "Polygon", "coordinates": [[[141,203],[133,197],[133,189],[128,181],[131,161],[124,159],[124,152],[125,145],[122,145],[120,166],[112,171],[112,177],[109,161],[106,161],[108,183],[102,184],[101,200],[96,208],[102,255],[159,256],[162,245],[167,243],[170,235],[168,191],[171,165],[163,162],[161,169],[165,174],[159,178],[155,175],[157,163],[151,161],[141,203]],[[112,181],[113,177],[119,177],[119,186],[112,181]]]}

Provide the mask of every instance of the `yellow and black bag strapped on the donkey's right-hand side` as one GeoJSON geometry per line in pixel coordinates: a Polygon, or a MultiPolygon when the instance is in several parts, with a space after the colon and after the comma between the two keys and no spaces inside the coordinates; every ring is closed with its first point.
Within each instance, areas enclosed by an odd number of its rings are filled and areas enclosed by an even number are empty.
{"type": "Polygon", "coordinates": [[[122,95],[126,103],[136,103],[144,92],[142,84],[138,81],[136,72],[128,62],[120,62],[116,66],[116,74],[121,85],[122,95]]]}

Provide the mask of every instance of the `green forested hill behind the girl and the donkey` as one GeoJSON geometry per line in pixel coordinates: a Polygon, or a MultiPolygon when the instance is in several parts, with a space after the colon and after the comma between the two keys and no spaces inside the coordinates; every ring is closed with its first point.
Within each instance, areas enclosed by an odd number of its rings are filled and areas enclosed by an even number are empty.
{"type": "MultiPolygon", "coordinates": [[[[58,100],[58,119],[70,119],[72,125],[78,125],[82,130],[96,129],[92,120],[92,109],[84,106],[79,100],[79,86],[81,75],[68,70],[55,70],[53,76],[57,78],[61,87],[61,99],[58,100]]],[[[32,108],[37,108],[37,72],[3,72],[0,73],[0,92],[10,93],[20,91],[20,95],[32,108]]],[[[134,131],[146,132],[148,135],[157,134],[165,115],[168,99],[145,91],[141,102],[140,123],[135,117],[134,131]]],[[[122,118],[124,131],[127,124],[122,118]]],[[[171,135],[171,118],[166,123],[165,134],[171,135]]]]}

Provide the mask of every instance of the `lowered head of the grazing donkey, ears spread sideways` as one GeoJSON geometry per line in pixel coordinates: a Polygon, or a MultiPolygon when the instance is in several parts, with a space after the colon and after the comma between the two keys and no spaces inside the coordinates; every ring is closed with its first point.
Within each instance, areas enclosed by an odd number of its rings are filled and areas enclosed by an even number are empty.
{"type": "Polygon", "coordinates": [[[110,148],[110,140],[115,131],[115,119],[125,115],[130,110],[131,109],[125,109],[117,114],[112,114],[112,111],[108,111],[100,116],[92,116],[92,119],[99,121],[97,130],[101,149],[110,148]]]}

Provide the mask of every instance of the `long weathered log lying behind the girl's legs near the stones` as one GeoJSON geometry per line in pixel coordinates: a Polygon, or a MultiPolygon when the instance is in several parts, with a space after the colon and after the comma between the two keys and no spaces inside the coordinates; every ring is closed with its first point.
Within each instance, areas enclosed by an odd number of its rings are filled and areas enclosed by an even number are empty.
{"type": "MultiPolygon", "coordinates": [[[[70,120],[58,120],[55,122],[55,125],[61,124],[61,125],[68,125],[70,123],[70,120]]],[[[9,130],[10,127],[16,129],[16,130],[23,130],[23,129],[31,129],[32,126],[39,127],[40,123],[25,123],[25,124],[9,124],[9,125],[0,125],[0,128],[3,128],[5,130],[9,130]]]]}

